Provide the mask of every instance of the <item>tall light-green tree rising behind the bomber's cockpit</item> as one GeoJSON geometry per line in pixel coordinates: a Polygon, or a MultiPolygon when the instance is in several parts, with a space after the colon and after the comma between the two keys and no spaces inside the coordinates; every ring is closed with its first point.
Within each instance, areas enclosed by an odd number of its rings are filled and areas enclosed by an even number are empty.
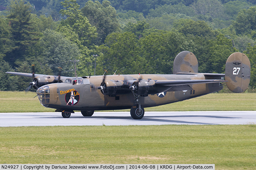
{"type": "Polygon", "coordinates": [[[89,72],[87,63],[91,62],[90,56],[97,49],[95,45],[97,29],[82,14],[76,0],[65,0],[62,5],[65,9],[60,10],[60,13],[67,18],[60,22],[57,31],[78,46],[80,52],[80,55],[78,54],[76,57],[76,59],[80,60],[78,73],[86,74],[89,72]]]}

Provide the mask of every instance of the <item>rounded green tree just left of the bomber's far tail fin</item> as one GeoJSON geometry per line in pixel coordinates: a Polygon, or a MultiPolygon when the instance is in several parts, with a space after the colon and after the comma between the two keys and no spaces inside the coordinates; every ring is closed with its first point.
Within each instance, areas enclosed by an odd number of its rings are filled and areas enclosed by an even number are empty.
{"type": "Polygon", "coordinates": [[[140,39],[140,56],[144,74],[172,74],[175,56],[189,50],[185,36],[172,31],[157,30],[140,39]]]}

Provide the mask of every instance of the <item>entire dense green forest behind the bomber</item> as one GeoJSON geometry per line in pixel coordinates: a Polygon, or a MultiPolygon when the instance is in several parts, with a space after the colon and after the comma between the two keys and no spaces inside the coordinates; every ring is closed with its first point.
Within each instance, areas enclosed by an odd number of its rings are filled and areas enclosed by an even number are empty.
{"type": "MultiPolygon", "coordinates": [[[[7,71],[78,76],[172,74],[181,51],[199,72],[224,73],[244,52],[256,88],[255,0],[1,0],[0,90],[23,91],[31,78],[7,71]],[[95,69],[96,65],[96,69],[95,69]]],[[[253,90],[252,90],[253,91],[253,90]]]]}

